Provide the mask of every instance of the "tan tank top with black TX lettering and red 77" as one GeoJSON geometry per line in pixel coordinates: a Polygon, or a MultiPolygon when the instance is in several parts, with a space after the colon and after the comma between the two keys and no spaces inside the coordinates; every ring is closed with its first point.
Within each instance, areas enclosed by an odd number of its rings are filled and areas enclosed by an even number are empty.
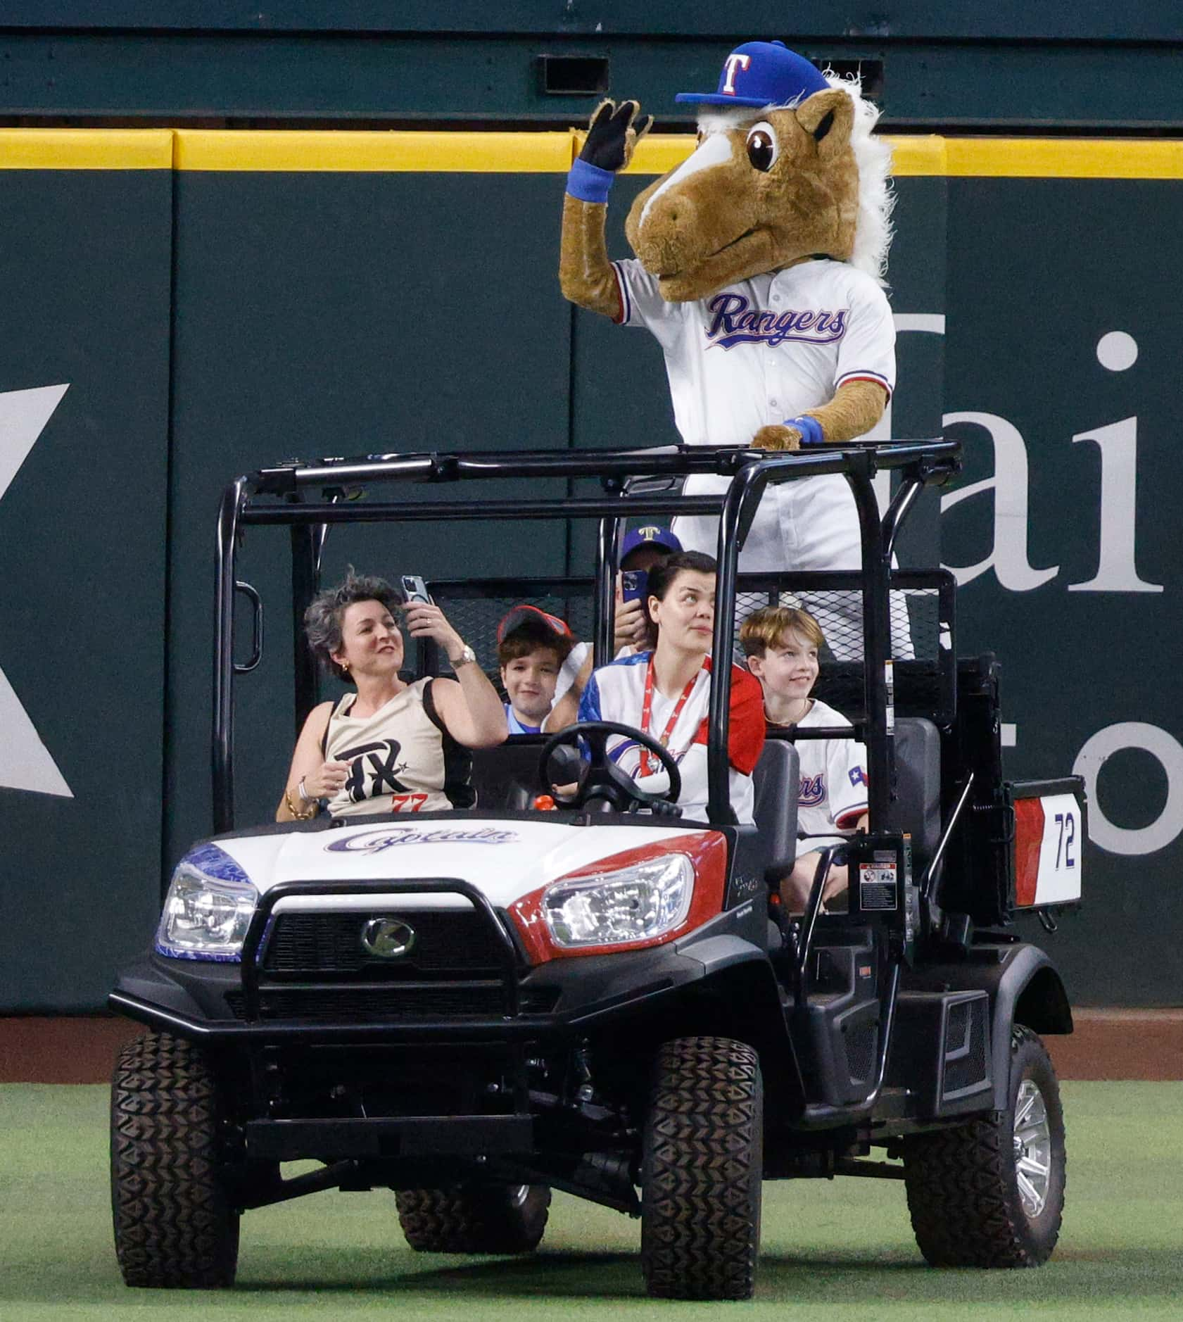
{"type": "Polygon", "coordinates": [[[370,717],[350,715],[356,693],[333,709],[321,751],[325,761],[352,764],[329,801],[333,817],[473,806],[472,754],[445,730],[431,683],[408,683],[370,717]]]}

